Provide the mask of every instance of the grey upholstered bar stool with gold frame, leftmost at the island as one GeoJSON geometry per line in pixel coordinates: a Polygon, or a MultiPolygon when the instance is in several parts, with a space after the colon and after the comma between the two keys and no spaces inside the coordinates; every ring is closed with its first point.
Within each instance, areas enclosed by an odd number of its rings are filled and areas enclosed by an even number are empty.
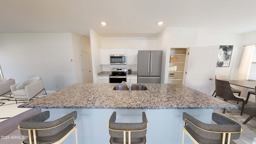
{"type": "Polygon", "coordinates": [[[74,123],[77,118],[76,111],[57,120],[44,122],[49,117],[50,112],[45,111],[22,120],[18,126],[20,134],[28,136],[22,144],[60,144],[74,131],[77,144],[77,130],[74,123]]]}

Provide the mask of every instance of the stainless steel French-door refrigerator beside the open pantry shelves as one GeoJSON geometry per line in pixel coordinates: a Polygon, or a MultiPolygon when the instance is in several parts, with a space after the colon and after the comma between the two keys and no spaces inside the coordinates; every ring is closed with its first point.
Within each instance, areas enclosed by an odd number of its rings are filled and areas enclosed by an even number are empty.
{"type": "Polygon", "coordinates": [[[160,83],[162,50],[138,51],[138,83],[160,83]]]}

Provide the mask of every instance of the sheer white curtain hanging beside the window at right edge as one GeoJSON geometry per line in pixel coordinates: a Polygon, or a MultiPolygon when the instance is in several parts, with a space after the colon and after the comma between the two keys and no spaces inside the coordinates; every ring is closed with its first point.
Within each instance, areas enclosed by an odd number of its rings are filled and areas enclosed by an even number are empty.
{"type": "Polygon", "coordinates": [[[238,70],[238,80],[248,80],[255,44],[245,46],[238,70]]]}

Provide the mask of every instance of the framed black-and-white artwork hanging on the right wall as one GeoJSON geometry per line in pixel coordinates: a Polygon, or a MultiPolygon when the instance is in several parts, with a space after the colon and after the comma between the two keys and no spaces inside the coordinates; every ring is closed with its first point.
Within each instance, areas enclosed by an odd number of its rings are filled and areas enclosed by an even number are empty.
{"type": "Polygon", "coordinates": [[[233,46],[220,46],[216,67],[229,67],[233,46]]]}

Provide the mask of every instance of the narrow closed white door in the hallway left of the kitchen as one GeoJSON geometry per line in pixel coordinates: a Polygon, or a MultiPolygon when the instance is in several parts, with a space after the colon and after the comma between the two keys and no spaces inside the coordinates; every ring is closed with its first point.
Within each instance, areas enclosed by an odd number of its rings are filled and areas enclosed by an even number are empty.
{"type": "Polygon", "coordinates": [[[91,59],[90,54],[87,52],[81,52],[81,63],[83,71],[83,80],[84,83],[92,82],[92,68],[91,68],[91,59]]]}

